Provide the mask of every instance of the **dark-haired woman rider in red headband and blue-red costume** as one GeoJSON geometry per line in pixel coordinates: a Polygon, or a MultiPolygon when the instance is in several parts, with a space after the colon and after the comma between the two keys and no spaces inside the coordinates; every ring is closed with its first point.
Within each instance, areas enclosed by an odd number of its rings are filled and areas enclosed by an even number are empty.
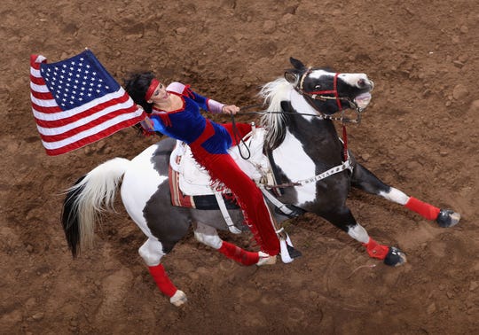
{"type": "MultiPolygon", "coordinates": [[[[152,72],[131,74],[123,86],[148,114],[141,122],[143,129],[158,131],[188,144],[194,159],[208,170],[212,181],[219,181],[232,191],[262,251],[277,255],[279,239],[263,194],[227,152],[237,144],[236,136],[232,136],[232,125],[218,124],[200,113],[203,109],[210,113],[234,114],[240,108],[203,97],[180,82],[165,87],[152,72]]],[[[245,123],[236,126],[241,137],[251,130],[245,123]]],[[[233,248],[234,245],[224,242],[219,251],[231,256],[233,248]]]]}

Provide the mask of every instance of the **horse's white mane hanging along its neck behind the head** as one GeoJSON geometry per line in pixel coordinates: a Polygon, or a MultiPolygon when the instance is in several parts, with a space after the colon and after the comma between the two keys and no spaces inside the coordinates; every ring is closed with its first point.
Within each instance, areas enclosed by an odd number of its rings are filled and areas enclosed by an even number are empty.
{"type": "Polygon", "coordinates": [[[263,105],[268,105],[265,113],[261,118],[261,126],[267,129],[266,144],[274,146],[280,139],[284,137],[284,126],[286,117],[281,109],[281,101],[289,100],[290,92],[294,85],[287,82],[285,78],[278,78],[274,82],[268,82],[263,85],[258,93],[263,97],[263,105]]]}

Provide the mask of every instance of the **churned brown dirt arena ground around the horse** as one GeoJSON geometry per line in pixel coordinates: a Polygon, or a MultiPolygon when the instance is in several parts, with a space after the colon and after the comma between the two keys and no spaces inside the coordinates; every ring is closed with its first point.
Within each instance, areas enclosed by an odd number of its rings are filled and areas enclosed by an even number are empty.
{"type": "MultiPolygon", "coordinates": [[[[477,333],[475,0],[4,0],[0,18],[0,333],[477,333]],[[441,229],[352,192],[358,221],[407,253],[397,269],[312,215],[288,222],[303,257],[261,269],[232,263],[190,234],[164,259],[189,299],[175,308],[137,254],[144,236],[120,202],[95,249],[75,261],[67,250],[61,192],[156,140],[124,129],[75,152],[45,154],[30,107],[29,56],[54,62],[85,47],[119,81],[152,69],[236,105],[258,103],[258,87],[282,75],[290,56],[364,72],[376,88],[361,125],[349,127],[349,147],[386,183],[462,220],[441,229]]],[[[250,246],[248,235],[222,237],[250,246]]]]}

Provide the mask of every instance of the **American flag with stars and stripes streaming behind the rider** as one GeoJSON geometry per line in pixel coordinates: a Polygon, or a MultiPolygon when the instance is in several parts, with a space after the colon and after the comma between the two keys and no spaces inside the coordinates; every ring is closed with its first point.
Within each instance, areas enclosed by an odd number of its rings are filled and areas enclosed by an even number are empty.
{"type": "Polygon", "coordinates": [[[71,152],[145,119],[90,50],[57,63],[30,57],[36,127],[47,154],[71,152]]]}

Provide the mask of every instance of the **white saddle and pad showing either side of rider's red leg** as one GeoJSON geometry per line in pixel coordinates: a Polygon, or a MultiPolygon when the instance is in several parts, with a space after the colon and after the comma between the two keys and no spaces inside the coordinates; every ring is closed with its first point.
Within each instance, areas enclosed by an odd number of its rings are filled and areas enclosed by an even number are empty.
{"type": "MultiPolygon", "coordinates": [[[[268,159],[263,155],[264,133],[265,130],[262,128],[253,128],[243,138],[243,143],[229,149],[236,164],[254,181],[259,181],[270,170],[268,159]],[[247,160],[241,157],[240,150],[247,160]]],[[[179,187],[184,194],[198,196],[215,193],[211,187],[208,171],[194,160],[190,147],[184,142],[177,142],[175,150],[171,152],[169,163],[179,173],[179,187]]]]}

